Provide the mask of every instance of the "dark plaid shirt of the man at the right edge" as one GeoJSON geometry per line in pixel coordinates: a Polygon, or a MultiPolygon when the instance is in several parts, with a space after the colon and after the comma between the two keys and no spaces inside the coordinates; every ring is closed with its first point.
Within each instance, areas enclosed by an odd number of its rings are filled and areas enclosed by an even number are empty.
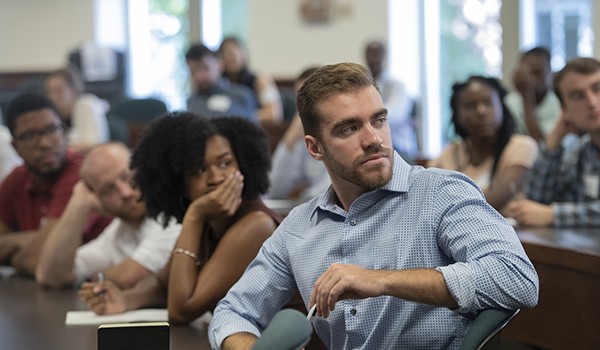
{"type": "Polygon", "coordinates": [[[600,226],[600,150],[589,135],[567,150],[541,152],[529,173],[527,198],[552,205],[554,225],[600,226]]]}

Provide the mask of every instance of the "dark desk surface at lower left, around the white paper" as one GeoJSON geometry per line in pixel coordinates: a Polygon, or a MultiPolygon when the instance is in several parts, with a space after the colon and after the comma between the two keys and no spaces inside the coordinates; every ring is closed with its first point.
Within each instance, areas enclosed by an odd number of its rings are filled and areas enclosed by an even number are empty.
{"type": "MultiPolygon", "coordinates": [[[[0,277],[0,348],[95,350],[97,326],[66,326],[66,312],[87,310],[76,290],[47,290],[32,279],[0,277]]],[[[210,349],[204,329],[171,326],[171,350],[210,349]]]]}

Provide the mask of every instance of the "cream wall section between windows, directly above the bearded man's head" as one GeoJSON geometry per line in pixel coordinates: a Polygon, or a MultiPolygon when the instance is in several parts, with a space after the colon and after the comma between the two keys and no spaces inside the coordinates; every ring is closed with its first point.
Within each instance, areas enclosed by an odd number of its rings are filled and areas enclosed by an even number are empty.
{"type": "Polygon", "coordinates": [[[295,78],[312,65],[364,62],[364,46],[387,39],[387,0],[332,0],[327,23],[305,23],[300,1],[248,0],[251,66],[295,78]]]}

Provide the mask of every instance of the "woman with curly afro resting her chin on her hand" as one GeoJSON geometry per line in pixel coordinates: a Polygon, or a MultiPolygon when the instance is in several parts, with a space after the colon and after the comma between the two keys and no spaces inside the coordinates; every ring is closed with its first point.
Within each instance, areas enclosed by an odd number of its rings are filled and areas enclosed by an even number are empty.
{"type": "Polygon", "coordinates": [[[182,223],[171,260],[131,289],[105,281],[80,295],[98,314],[166,299],[169,321],[189,323],[212,311],[280,223],[260,199],[269,186],[266,135],[242,118],[173,113],[149,126],[131,168],[148,215],[182,223]]]}

